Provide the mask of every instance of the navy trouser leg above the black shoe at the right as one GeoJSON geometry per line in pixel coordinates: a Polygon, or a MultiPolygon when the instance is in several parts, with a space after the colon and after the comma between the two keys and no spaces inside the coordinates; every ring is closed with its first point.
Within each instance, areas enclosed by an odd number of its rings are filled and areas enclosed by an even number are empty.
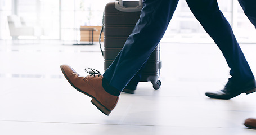
{"type": "Polygon", "coordinates": [[[232,79],[241,83],[254,79],[230,24],[219,10],[217,0],[186,1],[196,19],[222,51],[231,69],[232,79]]]}

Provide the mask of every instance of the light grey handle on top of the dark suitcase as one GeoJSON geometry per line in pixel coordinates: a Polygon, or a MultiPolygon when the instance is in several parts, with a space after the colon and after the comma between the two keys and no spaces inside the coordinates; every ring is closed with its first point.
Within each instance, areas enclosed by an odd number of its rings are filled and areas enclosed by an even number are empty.
{"type": "Polygon", "coordinates": [[[115,1],[115,8],[122,12],[140,12],[143,2],[142,0],[139,0],[138,3],[135,2],[136,1],[115,1]]]}

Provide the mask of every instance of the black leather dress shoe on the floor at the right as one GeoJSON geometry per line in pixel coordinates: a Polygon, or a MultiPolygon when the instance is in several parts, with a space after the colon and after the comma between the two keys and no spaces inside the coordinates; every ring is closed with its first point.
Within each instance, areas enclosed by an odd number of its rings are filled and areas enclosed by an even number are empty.
{"type": "Polygon", "coordinates": [[[230,98],[236,97],[241,93],[250,94],[255,91],[256,91],[255,79],[250,80],[249,82],[244,84],[233,82],[230,79],[228,80],[226,86],[221,91],[206,92],[205,95],[210,98],[229,100],[230,98]]]}

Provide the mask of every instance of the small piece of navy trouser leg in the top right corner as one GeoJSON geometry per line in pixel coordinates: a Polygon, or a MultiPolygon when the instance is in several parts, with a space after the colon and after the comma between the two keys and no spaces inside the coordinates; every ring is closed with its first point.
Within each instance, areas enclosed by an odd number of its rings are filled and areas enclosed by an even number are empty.
{"type": "Polygon", "coordinates": [[[255,0],[238,0],[245,15],[256,27],[256,1],[255,0]]]}

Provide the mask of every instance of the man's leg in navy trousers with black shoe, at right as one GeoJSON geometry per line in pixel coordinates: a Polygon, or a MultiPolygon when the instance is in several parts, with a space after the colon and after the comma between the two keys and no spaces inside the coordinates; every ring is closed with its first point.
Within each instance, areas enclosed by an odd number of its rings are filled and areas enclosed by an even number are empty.
{"type": "Polygon", "coordinates": [[[199,20],[200,24],[222,51],[231,69],[230,75],[232,78],[229,79],[226,87],[217,93],[206,92],[206,96],[230,99],[240,93],[249,93],[251,89],[256,87],[253,73],[236,41],[230,24],[219,10],[217,1],[186,1],[196,19],[199,20]]]}

